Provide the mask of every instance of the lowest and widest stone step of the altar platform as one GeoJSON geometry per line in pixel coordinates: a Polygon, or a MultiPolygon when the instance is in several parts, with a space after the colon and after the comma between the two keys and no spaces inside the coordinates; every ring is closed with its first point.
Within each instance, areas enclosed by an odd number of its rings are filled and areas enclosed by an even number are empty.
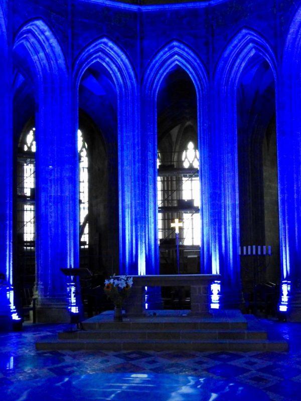
{"type": "Polygon", "coordinates": [[[58,340],[49,338],[36,343],[37,350],[190,350],[190,351],[287,351],[284,340],[130,340],[90,339],[58,340]]]}

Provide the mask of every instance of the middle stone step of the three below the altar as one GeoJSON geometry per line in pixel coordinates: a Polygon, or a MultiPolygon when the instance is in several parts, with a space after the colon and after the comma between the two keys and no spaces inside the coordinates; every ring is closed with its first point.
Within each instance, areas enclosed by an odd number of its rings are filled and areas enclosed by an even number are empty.
{"type": "Polygon", "coordinates": [[[267,333],[264,330],[183,330],[182,327],[174,330],[90,330],[59,333],[60,340],[68,339],[139,339],[139,340],[266,340],[267,333]]]}

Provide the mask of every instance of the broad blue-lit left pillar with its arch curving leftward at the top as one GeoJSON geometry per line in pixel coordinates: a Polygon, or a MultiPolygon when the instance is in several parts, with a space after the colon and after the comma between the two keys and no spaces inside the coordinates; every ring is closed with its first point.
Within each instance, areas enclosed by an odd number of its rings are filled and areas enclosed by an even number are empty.
{"type": "Polygon", "coordinates": [[[70,79],[56,38],[42,20],[18,33],[14,56],[17,67],[31,74],[36,101],[37,321],[64,322],[69,319],[67,288],[60,269],[78,267],[78,155],[70,79]]]}

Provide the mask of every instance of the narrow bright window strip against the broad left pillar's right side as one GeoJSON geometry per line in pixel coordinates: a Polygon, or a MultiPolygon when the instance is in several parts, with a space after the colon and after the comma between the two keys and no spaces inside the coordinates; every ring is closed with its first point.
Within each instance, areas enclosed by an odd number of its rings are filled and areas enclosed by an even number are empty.
{"type": "Polygon", "coordinates": [[[88,223],[88,155],[87,143],[83,139],[81,130],[78,130],[78,154],[79,154],[79,223],[80,223],[80,247],[88,248],[89,223],[88,223]]]}

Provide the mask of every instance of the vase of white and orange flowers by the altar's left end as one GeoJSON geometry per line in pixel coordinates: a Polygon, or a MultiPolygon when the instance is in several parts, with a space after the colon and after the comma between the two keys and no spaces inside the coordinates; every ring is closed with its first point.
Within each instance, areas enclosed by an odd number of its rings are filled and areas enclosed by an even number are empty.
{"type": "Polygon", "coordinates": [[[129,276],[111,276],[104,282],[104,292],[114,303],[114,320],[122,321],[122,304],[129,296],[130,288],[133,285],[133,278],[129,276]]]}

